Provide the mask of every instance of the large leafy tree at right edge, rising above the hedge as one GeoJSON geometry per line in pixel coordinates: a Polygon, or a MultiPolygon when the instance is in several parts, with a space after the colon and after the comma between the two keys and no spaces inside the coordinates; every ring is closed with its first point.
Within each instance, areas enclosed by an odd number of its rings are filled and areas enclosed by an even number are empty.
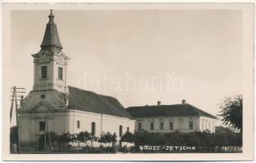
{"type": "Polygon", "coordinates": [[[243,130],[243,96],[236,95],[231,98],[228,97],[220,104],[221,111],[218,116],[222,117],[224,125],[231,126],[236,130],[243,130]]]}

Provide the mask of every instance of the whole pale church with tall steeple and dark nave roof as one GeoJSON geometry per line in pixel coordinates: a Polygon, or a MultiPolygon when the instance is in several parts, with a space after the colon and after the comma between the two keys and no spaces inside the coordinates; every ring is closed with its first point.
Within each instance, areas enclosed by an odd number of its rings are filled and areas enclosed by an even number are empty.
{"type": "Polygon", "coordinates": [[[70,57],[63,51],[52,11],[41,44],[34,58],[34,86],[20,102],[21,148],[37,150],[45,131],[78,134],[88,131],[99,137],[110,132],[117,142],[134,131],[135,120],[114,97],[67,86],[66,69],[70,57]]]}

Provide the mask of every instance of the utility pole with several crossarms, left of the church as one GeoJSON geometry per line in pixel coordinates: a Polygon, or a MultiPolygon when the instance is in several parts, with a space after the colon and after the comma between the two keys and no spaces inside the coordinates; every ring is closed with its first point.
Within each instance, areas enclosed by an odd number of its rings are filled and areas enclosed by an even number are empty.
{"type": "MultiPolygon", "coordinates": [[[[20,126],[19,126],[19,109],[18,109],[18,100],[22,101],[23,100],[23,95],[17,95],[25,93],[25,88],[17,88],[16,86],[11,87],[12,89],[12,95],[11,95],[11,112],[10,112],[10,126],[11,126],[11,117],[12,117],[12,112],[13,112],[13,103],[15,102],[15,110],[16,110],[16,127],[17,127],[17,151],[18,154],[20,154],[20,126]],[[21,91],[17,91],[21,90],[21,91]],[[20,99],[17,99],[17,97],[20,97],[20,99]]],[[[10,132],[11,134],[11,132],[10,132]]]]}

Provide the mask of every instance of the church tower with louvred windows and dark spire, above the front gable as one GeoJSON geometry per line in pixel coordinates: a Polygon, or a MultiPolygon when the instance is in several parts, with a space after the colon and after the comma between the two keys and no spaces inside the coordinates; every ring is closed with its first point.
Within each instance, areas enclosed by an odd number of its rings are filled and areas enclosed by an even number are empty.
{"type": "Polygon", "coordinates": [[[66,71],[70,59],[62,51],[60,37],[54,22],[52,10],[48,15],[41,50],[34,57],[33,90],[57,90],[67,92],[66,71]]]}

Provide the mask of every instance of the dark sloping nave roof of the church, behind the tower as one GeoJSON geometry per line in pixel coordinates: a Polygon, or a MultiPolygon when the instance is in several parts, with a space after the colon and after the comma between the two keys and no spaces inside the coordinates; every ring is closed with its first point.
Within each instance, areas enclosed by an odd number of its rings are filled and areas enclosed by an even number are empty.
{"type": "Polygon", "coordinates": [[[73,86],[69,86],[69,92],[69,109],[132,119],[129,112],[114,97],[98,95],[92,91],[82,90],[73,86]]]}

